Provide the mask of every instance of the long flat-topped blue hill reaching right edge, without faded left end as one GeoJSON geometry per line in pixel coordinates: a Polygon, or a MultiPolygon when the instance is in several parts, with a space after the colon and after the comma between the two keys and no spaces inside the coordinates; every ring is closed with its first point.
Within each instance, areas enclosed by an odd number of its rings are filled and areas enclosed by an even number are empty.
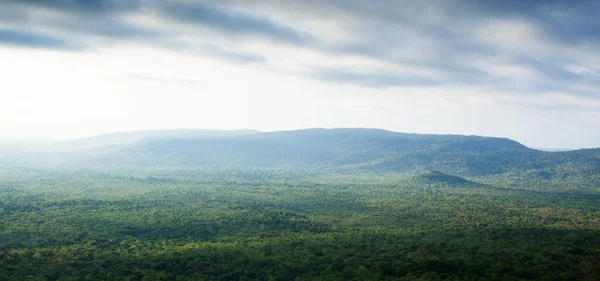
{"type": "Polygon", "coordinates": [[[93,161],[153,166],[441,170],[455,175],[513,173],[550,179],[598,174],[600,150],[544,152],[506,138],[377,129],[309,129],[212,138],[145,139],[102,153],[93,161]]]}

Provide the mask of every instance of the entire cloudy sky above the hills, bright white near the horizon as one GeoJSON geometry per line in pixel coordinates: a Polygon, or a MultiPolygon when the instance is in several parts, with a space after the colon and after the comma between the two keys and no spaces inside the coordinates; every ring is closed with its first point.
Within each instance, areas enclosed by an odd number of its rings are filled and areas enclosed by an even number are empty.
{"type": "Polygon", "coordinates": [[[0,0],[0,138],[368,127],[600,147],[600,1],[0,0]]]}

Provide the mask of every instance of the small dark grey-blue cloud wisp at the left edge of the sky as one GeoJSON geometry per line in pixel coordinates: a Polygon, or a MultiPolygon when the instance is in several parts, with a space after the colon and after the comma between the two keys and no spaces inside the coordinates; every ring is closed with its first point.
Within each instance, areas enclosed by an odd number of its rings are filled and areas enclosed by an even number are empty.
{"type": "Polygon", "coordinates": [[[0,45],[16,45],[31,48],[74,49],[75,45],[45,34],[0,28],[0,45]]]}

